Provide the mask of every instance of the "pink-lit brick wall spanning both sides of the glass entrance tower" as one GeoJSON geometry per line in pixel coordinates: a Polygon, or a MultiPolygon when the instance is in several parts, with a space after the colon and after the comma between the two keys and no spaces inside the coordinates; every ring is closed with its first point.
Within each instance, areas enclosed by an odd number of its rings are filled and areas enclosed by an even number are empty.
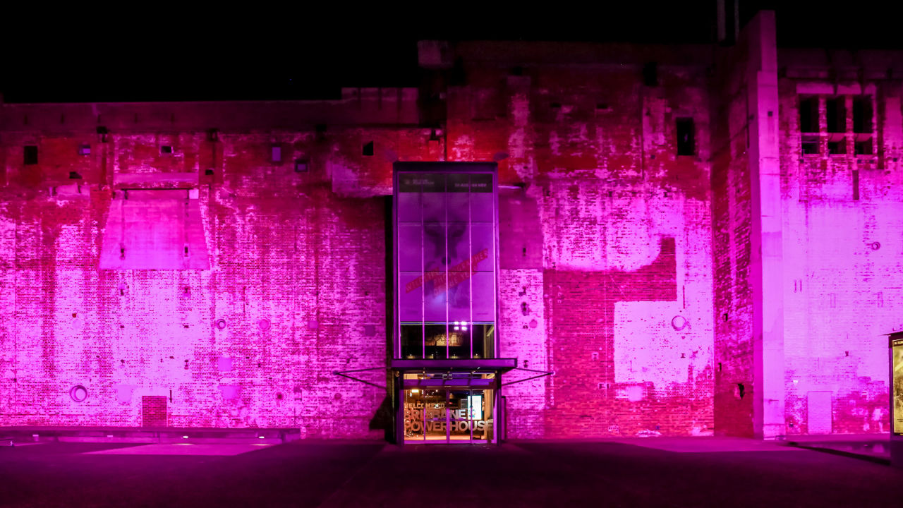
{"type": "MultiPolygon", "coordinates": [[[[5,107],[0,424],[139,425],[141,397],[172,390],[170,425],[382,437],[385,390],[333,372],[386,364],[391,163],[447,157],[497,161],[515,187],[500,196],[500,350],[554,375],[506,387],[508,437],[712,434],[716,351],[734,353],[713,338],[721,208],[706,51],[540,47],[505,57],[523,71],[491,61],[505,50],[491,44],[489,60],[471,59],[466,86],[444,90],[433,140],[378,91],[345,104],[379,126],[334,108],[340,127],[300,109],[310,125],[192,105],[143,123],[144,110],[134,121],[101,105],[107,143],[96,118],[61,132],[51,107],[32,127],[13,125],[27,108],[5,107]],[[662,62],[655,86],[643,84],[650,60],[662,62]],[[214,139],[207,126],[219,124],[204,118],[232,124],[214,139]],[[694,155],[676,155],[677,118],[694,118],[694,155]],[[83,143],[91,155],[77,155],[83,143]],[[24,144],[39,146],[39,165],[22,165],[24,144]],[[295,159],[310,172],[295,173],[295,159]],[[209,270],[98,270],[112,193],[135,186],[197,189],[209,270]],[[88,400],[70,399],[74,384],[88,400]]],[[[742,216],[732,220],[741,233],[742,216]]]]}

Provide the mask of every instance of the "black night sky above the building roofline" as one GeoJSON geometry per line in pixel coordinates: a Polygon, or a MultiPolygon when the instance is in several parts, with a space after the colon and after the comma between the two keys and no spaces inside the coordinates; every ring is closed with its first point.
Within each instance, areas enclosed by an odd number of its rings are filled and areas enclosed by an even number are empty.
{"type": "MultiPolygon", "coordinates": [[[[0,92],[7,102],[326,99],[341,86],[416,86],[420,39],[705,43],[715,17],[714,0],[226,5],[7,16],[17,22],[0,46],[0,92]]],[[[740,15],[776,10],[785,47],[903,49],[892,5],[740,0],[740,15]]]]}

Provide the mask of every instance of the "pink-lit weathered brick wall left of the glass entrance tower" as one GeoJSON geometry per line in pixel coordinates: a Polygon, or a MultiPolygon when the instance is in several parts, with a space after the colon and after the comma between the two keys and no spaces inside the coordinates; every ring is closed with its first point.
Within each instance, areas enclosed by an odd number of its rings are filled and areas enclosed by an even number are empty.
{"type": "Polygon", "coordinates": [[[156,396],[170,426],[382,438],[385,390],[333,372],[386,364],[378,194],[392,157],[429,156],[422,134],[5,134],[0,425],[140,426],[142,398],[156,396]],[[364,138],[378,159],[361,155],[364,138]],[[81,143],[91,155],[77,155],[81,143]],[[25,144],[39,165],[22,164],[25,144]],[[343,146],[356,149],[333,155],[343,146]],[[310,173],[294,172],[298,157],[310,173]],[[340,170],[359,181],[329,174],[340,170]],[[200,183],[180,180],[192,173],[200,183]],[[112,193],[135,186],[198,189],[209,270],[98,270],[112,193]],[[69,395],[78,384],[83,402],[69,395]]]}

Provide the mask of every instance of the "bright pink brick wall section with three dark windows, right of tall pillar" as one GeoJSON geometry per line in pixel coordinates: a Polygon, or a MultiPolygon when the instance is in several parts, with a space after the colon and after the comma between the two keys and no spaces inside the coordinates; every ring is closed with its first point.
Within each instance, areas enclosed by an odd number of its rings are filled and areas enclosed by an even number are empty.
{"type": "Polygon", "coordinates": [[[797,83],[782,80],[780,89],[787,433],[810,432],[808,394],[817,391],[831,393],[831,431],[887,432],[884,334],[903,329],[900,88],[864,90],[877,98],[874,155],[855,155],[852,145],[848,155],[829,155],[824,99],[847,101],[852,132],[852,96],[863,90],[850,84],[835,95],[824,83],[797,83]],[[820,153],[803,155],[799,95],[813,92],[820,153]]]}

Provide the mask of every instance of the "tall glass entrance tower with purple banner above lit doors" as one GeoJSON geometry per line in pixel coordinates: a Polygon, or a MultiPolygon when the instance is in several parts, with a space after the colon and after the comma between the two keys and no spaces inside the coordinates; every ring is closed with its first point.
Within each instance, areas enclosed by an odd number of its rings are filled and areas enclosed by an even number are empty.
{"type": "Polygon", "coordinates": [[[396,442],[496,443],[498,192],[493,163],[396,163],[391,367],[396,442]]]}

